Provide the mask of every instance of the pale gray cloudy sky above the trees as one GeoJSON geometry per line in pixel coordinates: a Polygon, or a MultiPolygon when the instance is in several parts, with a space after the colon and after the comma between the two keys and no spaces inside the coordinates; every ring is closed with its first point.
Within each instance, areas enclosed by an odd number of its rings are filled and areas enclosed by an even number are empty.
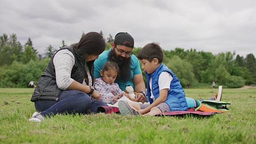
{"type": "Polygon", "coordinates": [[[255,0],[0,0],[0,35],[30,37],[43,54],[79,41],[82,32],[128,32],[135,47],[234,52],[256,56],[255,0]]]}

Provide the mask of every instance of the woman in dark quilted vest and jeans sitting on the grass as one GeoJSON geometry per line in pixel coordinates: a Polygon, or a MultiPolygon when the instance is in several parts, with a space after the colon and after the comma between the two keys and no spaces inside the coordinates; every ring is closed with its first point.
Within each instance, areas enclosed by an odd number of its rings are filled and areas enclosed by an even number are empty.
{"type": "Polygon", "coordinates": [[[99,33],[89,32],[78,43],[58,50],[32,95],[31,101],[41,113],[35,112],[30,121],[41,122],[45,116],[58,113],[88,114],[99,106],[108,106],[92,87],[94,60],[105,47],[106,40],[99,33]]]}

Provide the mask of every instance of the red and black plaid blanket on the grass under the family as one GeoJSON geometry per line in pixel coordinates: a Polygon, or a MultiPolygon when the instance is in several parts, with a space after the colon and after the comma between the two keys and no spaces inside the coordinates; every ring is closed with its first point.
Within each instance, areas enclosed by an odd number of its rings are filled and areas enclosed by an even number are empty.
{"type": "MultiPolygon", "coordinates": [[[[114,106],[100,106],[97,109],[97,112],[104,112],[106,114],[110,113],[120,113],[118,107],[114,106]]],[[[195,108],[190,108],[187,111],[172,111],[172,112],[165,112],[165,113],[160,113],[156,114],[155,116],[182,116],[184,114],[195,114],[195,115],[201,115],[201,116],[210,116],[215,114],[216,112],[201,112],[199,110],[195,111],[195,108]]],[[[220,112],[221,113],[221,112],[220,112]]]]}

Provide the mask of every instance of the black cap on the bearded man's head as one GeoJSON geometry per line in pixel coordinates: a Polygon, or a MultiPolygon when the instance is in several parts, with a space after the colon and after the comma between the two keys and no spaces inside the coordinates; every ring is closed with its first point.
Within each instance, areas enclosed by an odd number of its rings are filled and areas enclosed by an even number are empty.
{"type": "Polygon", "coordinates": [[[120,44],[122,46],[126,46],[128,48],[133,48],[134,47],[134,39],[127,32],[119,32],[118,34],[116,34],[115,39],[114,39],[114,43],[120,44]],[[124,44],[124,41],[131,42],[132,46],[130,46],[129,44],[124,44]]]}

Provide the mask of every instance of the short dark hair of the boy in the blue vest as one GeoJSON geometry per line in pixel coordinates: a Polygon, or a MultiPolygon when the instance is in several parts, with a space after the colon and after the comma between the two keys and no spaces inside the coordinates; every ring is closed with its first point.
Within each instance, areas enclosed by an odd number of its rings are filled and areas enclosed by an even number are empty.
{"type": "Polygon", "coordinates": [[[146,59],[152,62],[154,58],[158,59],[158,63],[162,63],[164,60],[164,51],[156,42],[146,44],[138,54],[138,59],[140,60],[146,59]]]}

